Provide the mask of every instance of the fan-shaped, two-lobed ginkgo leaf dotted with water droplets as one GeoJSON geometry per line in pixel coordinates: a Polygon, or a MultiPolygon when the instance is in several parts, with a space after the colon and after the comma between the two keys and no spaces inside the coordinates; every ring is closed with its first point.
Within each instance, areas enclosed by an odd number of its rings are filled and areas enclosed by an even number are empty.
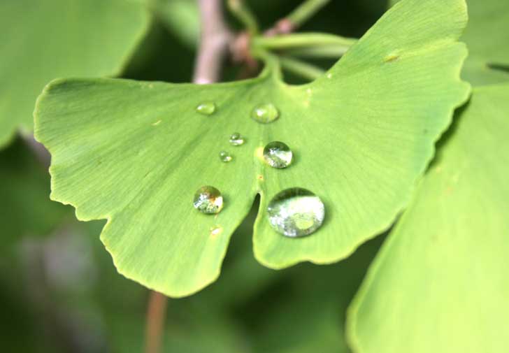
{"type": "Polygon", "coordinates": [[[330,263],[386,229],[467,99],[459,80],[466,48],[461,0],[406,0],[382,17],[326,76],[308,85],[280,80],[274,59],[252,80],[172,85],[130,80],[57,80],[36,106],[36,138],[52,154],[52,199],[79,219],[108,219],[101,239],[120,273],[185,296],[217,278],[231,233],[254,196],[261,206],[254,253],[266,266],[330,263]],[[213,102],[215,113],[195,107],[213,102]],[[280,117],[250,115],[273,103],[280,117]],[[229,134],[245,136],[229,145],[229,134]],[[260,156],[284,141],[292,165],[260,156]],[[233,160],[220,160],[221,150],[233,160]],[[199,187],[224,195],[224,209],[193,208],[199,187]],[[315,192],[322,228],[286,238],[269,226],[268,201],[282,189],[315,192]]]}

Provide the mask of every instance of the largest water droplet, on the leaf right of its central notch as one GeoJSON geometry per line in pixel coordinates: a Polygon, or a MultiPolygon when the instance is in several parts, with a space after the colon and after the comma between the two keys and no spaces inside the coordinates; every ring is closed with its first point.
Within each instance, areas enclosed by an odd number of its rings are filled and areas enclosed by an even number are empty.
{"type": "Polygon", "coordinates": [[[308,236],[324,222],[325,207],[313,192],[300,187],[276,194],[267,206],[272,228],[291,238],[308,236]]]}

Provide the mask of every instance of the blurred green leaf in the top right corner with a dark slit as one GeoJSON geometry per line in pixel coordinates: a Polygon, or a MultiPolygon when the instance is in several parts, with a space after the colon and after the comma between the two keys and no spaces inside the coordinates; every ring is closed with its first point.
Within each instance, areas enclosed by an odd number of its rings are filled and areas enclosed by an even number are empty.
{"type": "MultiPolygon", "coordinates": [[[[400,0],[389,1],[394,6],[400,0]]],[[[468,45],[461,77],[472,85],[509,81],[509,2],[468,0],[468,26],[461,37],[468,45]],[[496,69],[495,69],[496,68],[496,69]]]]}

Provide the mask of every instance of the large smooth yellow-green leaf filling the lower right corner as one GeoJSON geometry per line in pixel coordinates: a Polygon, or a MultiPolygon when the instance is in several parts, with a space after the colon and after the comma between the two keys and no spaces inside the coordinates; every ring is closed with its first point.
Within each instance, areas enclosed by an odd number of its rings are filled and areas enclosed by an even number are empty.
{"type": "Polygon", "coordinates": [[[504,352],[509,346],[509,85],[457,114],[349,315],[358,353],[504,352]]]}

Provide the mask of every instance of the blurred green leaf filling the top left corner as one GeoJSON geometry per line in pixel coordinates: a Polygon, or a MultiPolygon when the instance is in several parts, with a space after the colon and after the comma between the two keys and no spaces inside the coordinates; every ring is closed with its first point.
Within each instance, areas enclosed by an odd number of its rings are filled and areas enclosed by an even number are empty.
{"type": "Polygon", "coordinates": [[[0,2],[0,146],[32,130],[37,95],[54,78],[116,75],[148,27],[129,0],[0,2]]]}

